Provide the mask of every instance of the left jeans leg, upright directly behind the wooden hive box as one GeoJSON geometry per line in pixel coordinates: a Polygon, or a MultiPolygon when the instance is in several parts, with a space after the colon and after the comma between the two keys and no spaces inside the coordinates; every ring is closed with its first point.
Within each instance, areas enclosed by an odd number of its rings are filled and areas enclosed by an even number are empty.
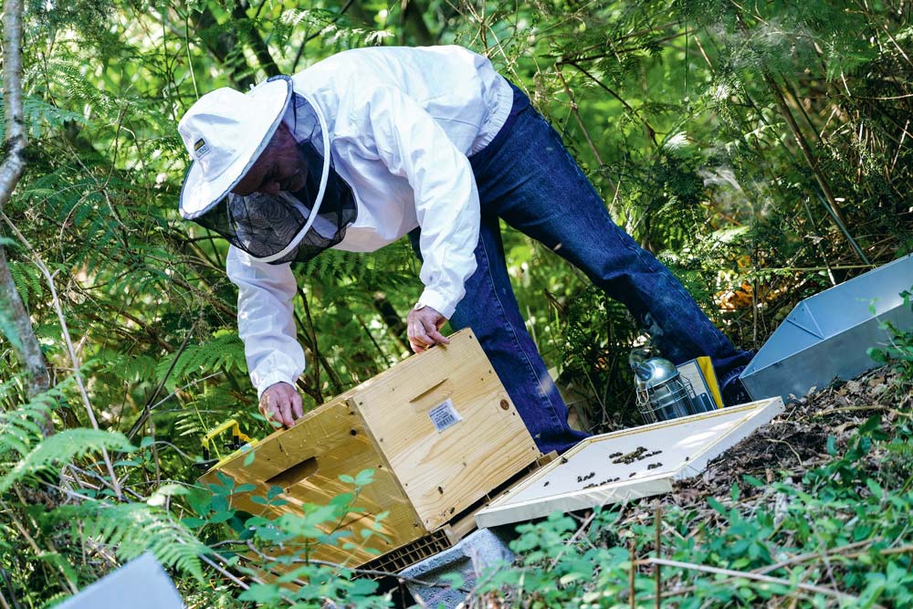
{"type": "MultiPolygon", "coordinates": [[[[416,255],[419,229],[409,234],[416,255]]],[[[482,215],[477,268],[450,318],[454,330],[471,328],[542,453],[564,452],[586,437],[567,424],[568,410],[519,312],[510,287],[498,217],[482,215]]]]}

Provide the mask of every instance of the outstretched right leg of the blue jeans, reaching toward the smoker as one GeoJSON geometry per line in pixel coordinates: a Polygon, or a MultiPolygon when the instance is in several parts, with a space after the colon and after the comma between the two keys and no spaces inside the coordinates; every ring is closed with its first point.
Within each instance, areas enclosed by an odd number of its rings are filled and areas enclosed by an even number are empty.
{"type": "Polygon", "coordinates": [[[748,363],[672,273],[616,226],[561,136],[531,107],[509,133],[474,155],[483,213],[550,247],[627,306],[664,356],[713,361],[720,382],[748,363]],[[489,150],[490,149],[490,150],[489,150]]]}

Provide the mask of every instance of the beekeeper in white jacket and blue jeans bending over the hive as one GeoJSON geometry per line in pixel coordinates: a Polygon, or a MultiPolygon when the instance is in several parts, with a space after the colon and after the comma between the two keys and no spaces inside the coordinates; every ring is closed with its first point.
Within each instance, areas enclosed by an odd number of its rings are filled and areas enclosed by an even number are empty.
{"type": "Polygon", "coordinates": [[[471,327],[543,452],[582,434],[526,331],[498,218],[581,268],[664,356],[709,355],[737,388],[750,359],[655,257],[615,226],[561,137],[487,58],[461,47],[339,53],[247,94],[217,89],[178,127],[192,164],[181,215],[231,244],[238,331],[261,410],[302,415],[290,263],[409,235],[425,285],[408,314],[415,352],[471,327]]]}

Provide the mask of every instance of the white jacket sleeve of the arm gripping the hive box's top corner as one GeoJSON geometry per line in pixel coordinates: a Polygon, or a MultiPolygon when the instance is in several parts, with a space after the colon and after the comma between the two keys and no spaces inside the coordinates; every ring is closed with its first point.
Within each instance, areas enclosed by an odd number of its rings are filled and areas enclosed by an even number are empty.
{"type": "Polygon", "coordinates": [[[373,137],[381,161],[415,193],[425,284],[419,302],[449,319],[476,270],[479,205],[469,160],[400,89],[373,89],[362,121],[362,137],[373,137]]]}

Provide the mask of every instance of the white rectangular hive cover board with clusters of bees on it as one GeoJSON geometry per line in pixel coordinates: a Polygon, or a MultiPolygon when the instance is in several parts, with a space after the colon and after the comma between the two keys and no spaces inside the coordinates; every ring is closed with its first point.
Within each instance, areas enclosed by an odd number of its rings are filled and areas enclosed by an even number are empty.
{"type": "Polygon", "coordinates": [[[582,440],[476,514],[478,527],[672,490],[783,411],[779,397],[582,440]]]}

